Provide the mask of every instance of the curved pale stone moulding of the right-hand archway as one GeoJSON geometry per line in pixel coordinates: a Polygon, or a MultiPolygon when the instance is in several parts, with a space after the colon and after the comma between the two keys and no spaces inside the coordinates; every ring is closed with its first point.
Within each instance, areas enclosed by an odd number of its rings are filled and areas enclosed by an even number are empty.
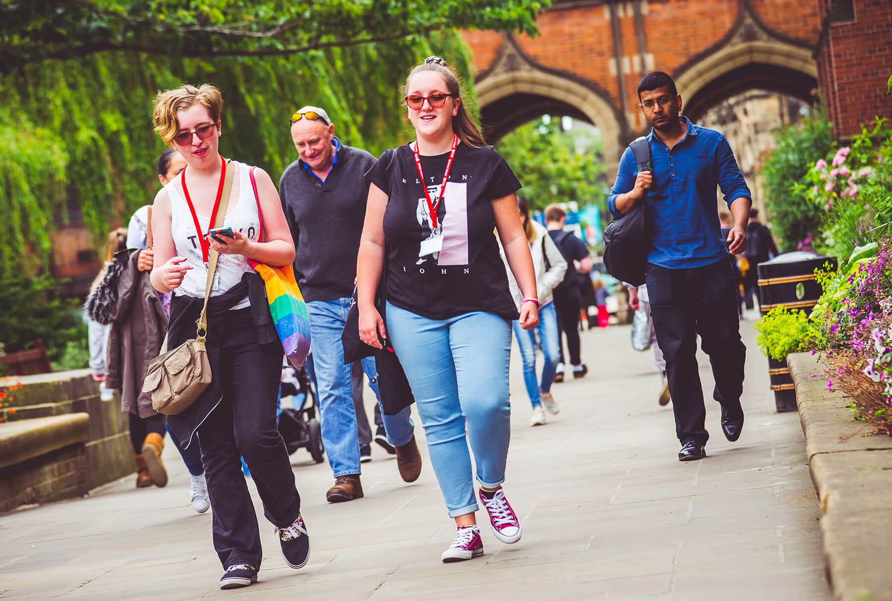
{"type": "Polygon", "coordinates": [[[818,70],[812,53],[779,40],[726,45],[675,74],[675,86],[692,121],[731,95],[753,88],[811,102],[818,70]]]}

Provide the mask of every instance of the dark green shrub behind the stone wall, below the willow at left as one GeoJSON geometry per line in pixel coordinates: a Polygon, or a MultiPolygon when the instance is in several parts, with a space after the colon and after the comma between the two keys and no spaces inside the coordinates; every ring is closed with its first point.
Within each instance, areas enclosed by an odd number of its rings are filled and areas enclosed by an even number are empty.
{"type": "MultiPolygon", "coordinates": [[[[80,318],[80,304],[60,299],[56,283],[48,276],[16,275],[0,280],[0,341],[6,352],[25,350],[38,338],[44,341],[51,361],[66,355],[69,342],[85,346],[87,325],[80,318]]],[[[84,365],[80,365],[84,366],[84,365]]]]}

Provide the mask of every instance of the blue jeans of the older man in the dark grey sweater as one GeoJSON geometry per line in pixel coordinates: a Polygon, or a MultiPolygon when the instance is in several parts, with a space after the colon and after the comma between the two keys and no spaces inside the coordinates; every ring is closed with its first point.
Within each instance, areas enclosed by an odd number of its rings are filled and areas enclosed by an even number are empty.
{"type": "MultiPolygon", "coordinates": [[[[319,400],[319,422],[322,425],[322,442],[326,447],[328,465],[335,478],[360,473],[359,437],[356,432],[356,409],[353,407],[353,378],[351,366],[343,364],[341,334],[347,321],[350,299],[335,301],[309,301],[310,351],[313,353],[313,371],[316,374],[319,400]]],[[[378,392],[375,358],[362,359],[362,369],[368,382],[378,392]]],[[[384,413],[382,411],[382,413],[384,413]]],[[[384,415],[387,440],[399,447],[412,440],[415,424],[409,416],[410,408],[395,416],[384,415]]]]}

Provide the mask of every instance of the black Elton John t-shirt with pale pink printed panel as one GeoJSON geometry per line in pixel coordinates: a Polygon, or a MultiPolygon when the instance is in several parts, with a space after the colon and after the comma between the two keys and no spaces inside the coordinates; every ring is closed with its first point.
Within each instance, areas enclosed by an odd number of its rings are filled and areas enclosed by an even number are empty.
{"type": "MultiPolygon", "coordinates": [[[[434,202],[448,159],[449,152],[421,157],[434,202]]],[[[426,256],[420,255],[422,241],[431,236],[429,210],[411,146],[385,151],[366,178],[390,198],[384,212],[387,301],[429,319],[472,311],[517,318],[493,232],[491,201],[515,193],[520,182],[499,152],[458,144],[437,208],[442,250],[426,256]]]]}

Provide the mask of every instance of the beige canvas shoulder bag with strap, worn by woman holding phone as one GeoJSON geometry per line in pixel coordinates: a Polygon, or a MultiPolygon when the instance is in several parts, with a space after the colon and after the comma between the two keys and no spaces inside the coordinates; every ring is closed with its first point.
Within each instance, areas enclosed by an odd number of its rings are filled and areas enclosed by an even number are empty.
{"type": "MultiPolygon", "coordinates": [[[[226,217],[229,194],[232,192],[232,179],[235,175],[235,169],[232,167],[234,166],[230,166],[226,171],[219,209],[211,227],[222,226],[226,217]]],[[[198,234],[201,235],[201,232],[198,234]]],[[[211,284],[214,272],[217,270],[218,257],[218,252],[211,248],[208,253],[208,280],[204,286],[204,307],[202,316],[197,322],[198,328],[195,330],[194,340],[183,342],[174,350],[167,350],[165,336],[164,344],[161,345],[161,355],[149,363],[143,391],[152,393],[152,408],[158,413],[168,416],[182,413],[211,383],[211,363],[208,361],[204,339],[208,333],[208,299],[211,298],[211,284]]]]}

